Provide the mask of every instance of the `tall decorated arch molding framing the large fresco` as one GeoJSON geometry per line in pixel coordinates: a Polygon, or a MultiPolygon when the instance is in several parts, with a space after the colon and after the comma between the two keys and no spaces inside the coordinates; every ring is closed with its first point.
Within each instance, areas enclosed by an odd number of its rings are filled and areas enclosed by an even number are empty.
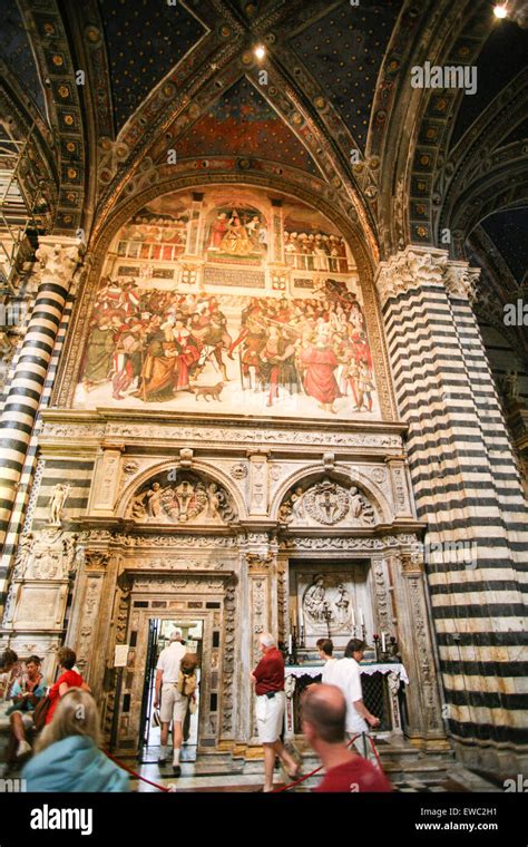
{"type": "Polygon", "coordinates": [[[294,168],[284,167],[283,173],[280,175],[273,168],[275,168],[274,165],[270,167],[266,174],[239,169],[237,173],[217,173],[214,176],[208,173],[205,174],[203,171],[192,174],[184,173],[178,176],[172,174],[170,177],[165,175],[162,182],[156,182],[145,187],[124,202],[107,221],[106,226],[99,228],[97,233],[92,233],[92,241],[86,255],[88,273],[86,274],[82,291],[79,292],[79,296],[77,298],[68,348],[62,358],[53,391],[55,405],[68,408],[72,403],[76,378],[82,357],[87,321],[94,308],[107,251],[120,226],[141,208],[145,203],[164,194],[185,188],[199,188],[202,186],[239,185],[244,187],[267,188],[282,195],[301,199],[317,208],[340,228],[352,250],[363,291],[364,310],[377,372],[382,417],[385,420],[394,420],[397,418],[398,411],[389,376],[389,357],[373,282],[375,261],[365,244],[360,224],[356,218],[348,217],[342,210],[335,208],[333,202],[338,193],[334,188],[314,177],[311,177],[310,184],[306,185],[305,175],[302,172],[295,172],[294,168]],[[299,178],[300,176],[302,179],[299,178]],[[322,192],[323,196],[317,193],[319,191],[322,192]]]}

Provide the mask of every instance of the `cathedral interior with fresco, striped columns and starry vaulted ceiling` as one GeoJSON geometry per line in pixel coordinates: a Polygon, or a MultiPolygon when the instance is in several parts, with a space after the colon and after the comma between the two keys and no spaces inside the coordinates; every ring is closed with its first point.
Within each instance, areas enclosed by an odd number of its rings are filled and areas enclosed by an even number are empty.
{"type": "Polygon", "coordinates": [[[393,783],[502,790],[528,770],[526,3],[2,9],[0,650],[52,680],[72,648],[105,744],[160,781],[179,626],[180,783],[237,790],[258,634],[309,763],[316,641],[356,636],[393,783]]]}

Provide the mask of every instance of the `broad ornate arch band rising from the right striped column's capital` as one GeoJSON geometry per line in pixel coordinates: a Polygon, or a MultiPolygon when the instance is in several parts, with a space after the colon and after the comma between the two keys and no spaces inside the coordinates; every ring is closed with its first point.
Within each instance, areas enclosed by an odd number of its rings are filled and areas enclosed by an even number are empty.
{"type": "MultiPolygon", "coordinates": [[[[459,56],[459,49],[467,50],[463,28],[475,11],[472,0],[457,4],[408,0],[400,13],[380,71],[366,148],[366,157],[374,153],[381,158],[378,225],[384,256],[410,243],[433,243],[433,175],[459,100],[441,103],[437,89],[412,88],[410,74],[426,59],[443,65],[459,56]],[[428,129],[432,134],[423,145],[428,129]],[[428,157],[426,165],[419,160],[421,150],[428,157]],[[423,208],[418,212],[418,206],[423,208]]],[[[463,62],[475,60],[488,33],[473,37],[469,53],[460,57],[463,62]]]]}

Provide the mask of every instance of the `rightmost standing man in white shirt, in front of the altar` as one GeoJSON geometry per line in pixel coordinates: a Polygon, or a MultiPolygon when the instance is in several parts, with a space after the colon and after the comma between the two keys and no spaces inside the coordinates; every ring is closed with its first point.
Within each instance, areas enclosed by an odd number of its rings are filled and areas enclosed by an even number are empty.
{"type": "Polygon", "coordinates": [[[349,641],[344,651],[344,659],[338,660],[332,669],[332,684],[341,689],[346,700],[348,736],[350,738],[358,736],[354,741],[358,752],[370,758],[371,747],[368,744],[365,733],[369,731],[369,724],[378,727],[380,719],[371,714],[363,703],[359,663],[363,659],[364,648],[364,642],[359,639],[349,641]]]}

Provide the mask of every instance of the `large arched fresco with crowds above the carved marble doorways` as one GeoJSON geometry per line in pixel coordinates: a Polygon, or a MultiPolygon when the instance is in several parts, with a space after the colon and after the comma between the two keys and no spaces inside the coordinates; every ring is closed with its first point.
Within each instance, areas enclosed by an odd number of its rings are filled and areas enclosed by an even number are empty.
{"type": "Polygon", "coordinates": [[[314,210],[303,218],[297,204],[272,226],[256,192],[253,203],[237,199],[203,203],[198,230],[196,214],[176,205],[167,213],[166,198],[121,227],[92,309],[76,407],[380,418],[344,238],[314,210]],[[180,265],[193,261],[194,276],[184,276],[180,265]]]}

